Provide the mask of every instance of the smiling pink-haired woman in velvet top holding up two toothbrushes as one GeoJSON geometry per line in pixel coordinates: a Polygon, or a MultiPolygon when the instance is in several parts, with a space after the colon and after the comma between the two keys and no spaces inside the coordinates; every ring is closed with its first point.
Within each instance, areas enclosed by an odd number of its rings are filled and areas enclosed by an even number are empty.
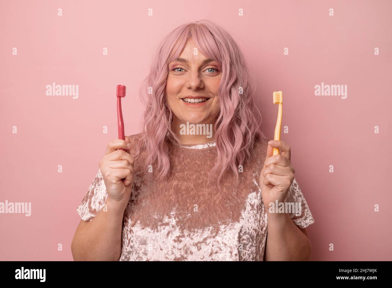
{"type": "Polygon", "coordinates": [[[314,219],[289,145],[260,131],[254,91],[218,25],[168,34],[140,90],[144,132],[109,142],[78,207],[74,260],[309,260],[314,219]],[[285,202],[299,213],[270,209],[285,202]]]}

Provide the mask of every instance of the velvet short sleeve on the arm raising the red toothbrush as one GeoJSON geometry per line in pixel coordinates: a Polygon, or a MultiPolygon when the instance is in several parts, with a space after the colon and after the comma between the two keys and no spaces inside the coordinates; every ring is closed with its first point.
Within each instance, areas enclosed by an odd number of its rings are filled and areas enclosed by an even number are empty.
{"type": "Polygon", "coordinates": [[[107,190],[99,169],[76,211],[83,221],[91,221],[105,205],[106,199],[107,190]]]}

